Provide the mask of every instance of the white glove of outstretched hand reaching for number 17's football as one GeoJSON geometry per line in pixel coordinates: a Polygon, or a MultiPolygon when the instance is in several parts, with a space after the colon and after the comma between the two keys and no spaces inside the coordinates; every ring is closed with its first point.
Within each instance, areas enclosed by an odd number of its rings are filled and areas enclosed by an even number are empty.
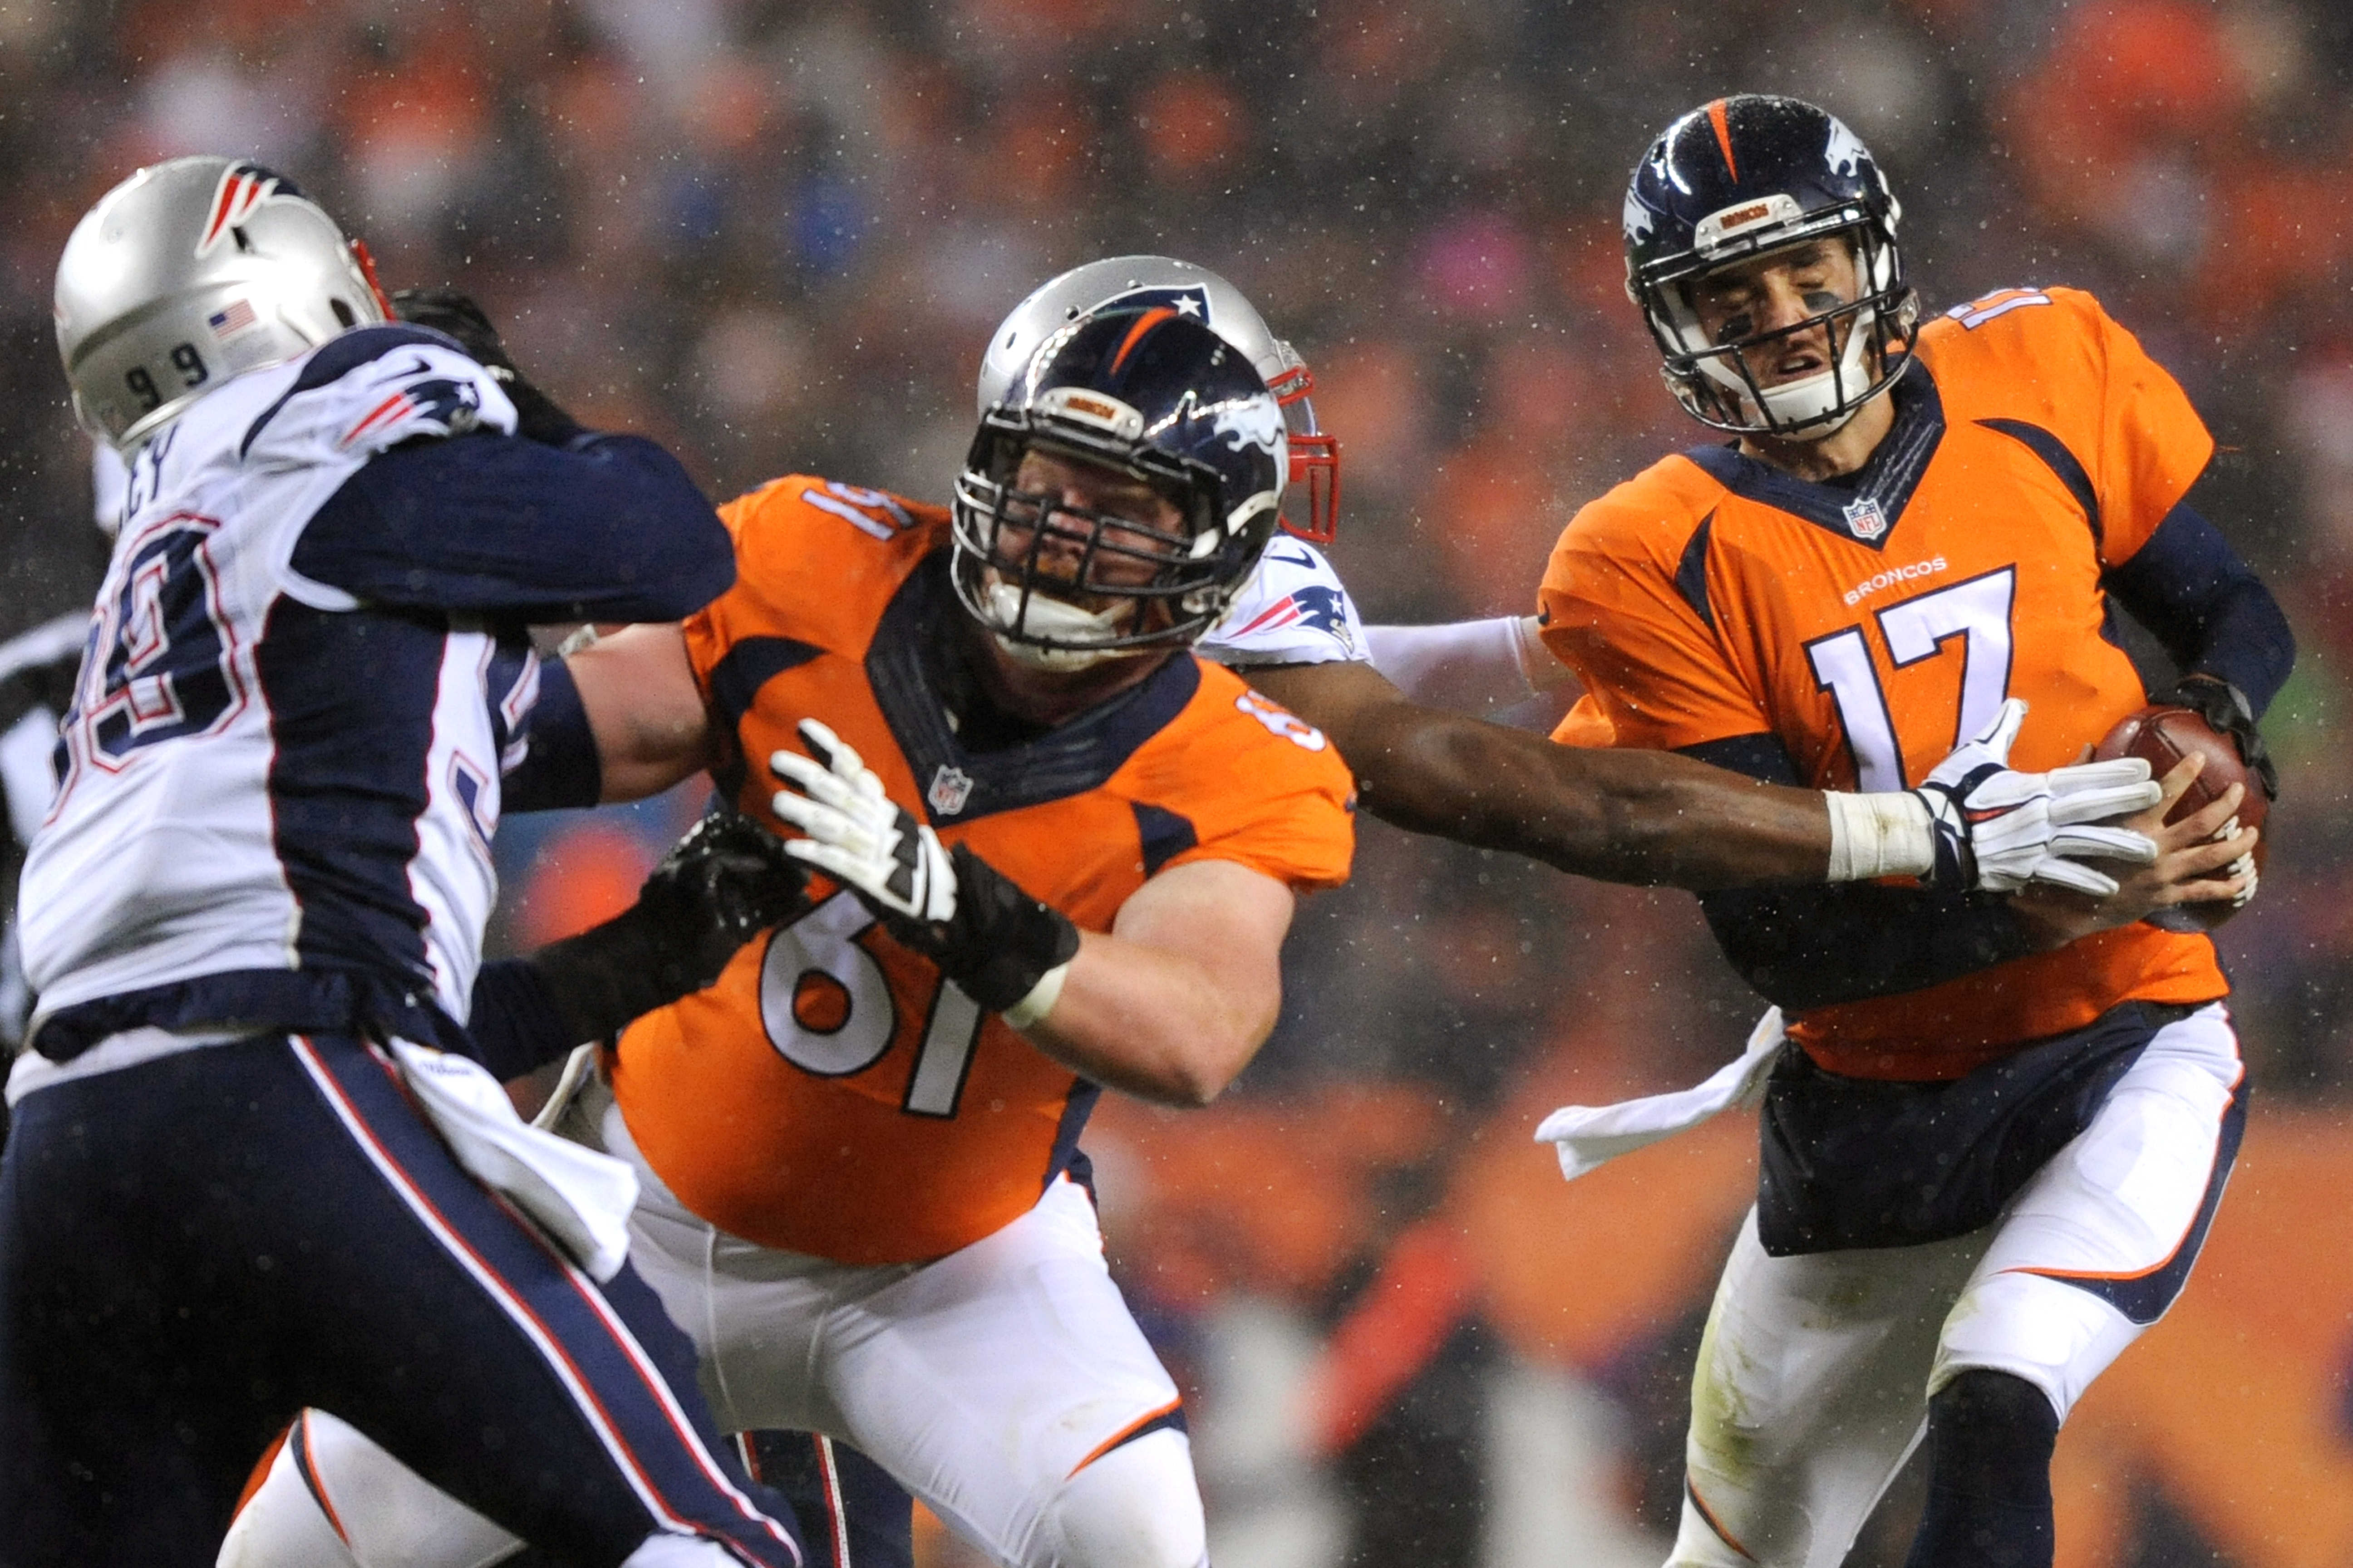
{"type": "Polygon", "coordinates": [[[2115,877],[2085,860],[2151,865],[2158,846],[2129,827],[2099,827],[2101,818],[2146,811],[2162,790],[2139,757],[2085,762],[2049,773],[2014,773],[2009,743],[2026,722],[2026,703],[2005,698],[1993,722],[1937,764],[1913,795],[1927,806],[1937,835],[1932,882],[1984,893],[2014,893],[2028,882],[2106,898],[2115,877]]]}

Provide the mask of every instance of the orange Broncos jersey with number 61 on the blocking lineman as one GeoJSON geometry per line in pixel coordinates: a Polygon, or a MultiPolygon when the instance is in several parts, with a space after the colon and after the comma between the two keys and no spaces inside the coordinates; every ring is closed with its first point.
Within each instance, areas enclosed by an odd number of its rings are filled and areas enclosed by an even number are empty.
{"type": "MultiPolygon", "coordinates": [[[[739,804],[776,832],[767,757],[802,717],[892,799],[1087,931],[1167,865],[1235,860],[1337,886],[1353,780],[1322,733],[1181,654],[1120,698],[1005,750],[958,743],[922,646],[965,625],[948,517],[788,477],[725,508],[736,585],[687,621],[739,804]]],[[[847,891],[640,1018],[612,1065],[640,1152],[694,1213],[765,1246],[911,1262],[1026,1213],[1096,1088],[896,945],[847,891]]]]}

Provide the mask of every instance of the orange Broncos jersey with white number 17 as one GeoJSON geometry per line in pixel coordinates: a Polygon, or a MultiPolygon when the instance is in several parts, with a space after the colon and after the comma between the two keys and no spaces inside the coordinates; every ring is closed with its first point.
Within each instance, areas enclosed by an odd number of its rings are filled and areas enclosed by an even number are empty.
{"type": "MultiPolygon", "coordinates": [[[[2104,635],[2132,559],[2214,451],[2188,397],[2075,289],[1929,322],[1899,418],[1852,487],[1732,447],[1671,456],[1553,548],[1546,644],[1586,684],[1572,745],[1777,736],[1824,790],[1901,790],[2028,703],[2019,769],[2075,762],[2146,698],[2104,635]]],[[[2202,936],[2127,926],[1791,1034],[1833,1072],[1941,1079],[2127,999],[2228,990],[2202,936]]]]}

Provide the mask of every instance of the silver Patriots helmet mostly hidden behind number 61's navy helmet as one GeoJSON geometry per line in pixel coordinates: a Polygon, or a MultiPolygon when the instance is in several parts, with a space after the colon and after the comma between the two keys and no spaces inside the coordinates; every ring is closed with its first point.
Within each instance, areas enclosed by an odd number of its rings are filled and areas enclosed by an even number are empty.
{"type": "Polygon", "coordinates": [[[1339,442],[1315,428],[1315,376],[1289,343],[1231,282],[1205,266],[1174,256],[1106,256],[1049,277],[998,324],[981,357],[979,411],[1002,404],[1038,348],[1071,322],[1099,310],[1148,310],[1167,306],[1202,322],[1242,350],[1282,407],[1289,437],[1294,498],[1282,527],[1318,545],[1339,531],[1339,442]]]}

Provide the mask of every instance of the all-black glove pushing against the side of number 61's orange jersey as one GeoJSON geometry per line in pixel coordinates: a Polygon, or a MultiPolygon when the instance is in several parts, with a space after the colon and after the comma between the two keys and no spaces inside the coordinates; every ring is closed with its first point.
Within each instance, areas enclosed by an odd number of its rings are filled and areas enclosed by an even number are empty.
{"type": "Polygon", "coordinates": [[[715,811],[678,839],[638,903],[529,957],[574,1039],[609,1039],[633,1018],[689,997],[760,931],[807,910],[809,872],[739,811],[715,811]]]}

